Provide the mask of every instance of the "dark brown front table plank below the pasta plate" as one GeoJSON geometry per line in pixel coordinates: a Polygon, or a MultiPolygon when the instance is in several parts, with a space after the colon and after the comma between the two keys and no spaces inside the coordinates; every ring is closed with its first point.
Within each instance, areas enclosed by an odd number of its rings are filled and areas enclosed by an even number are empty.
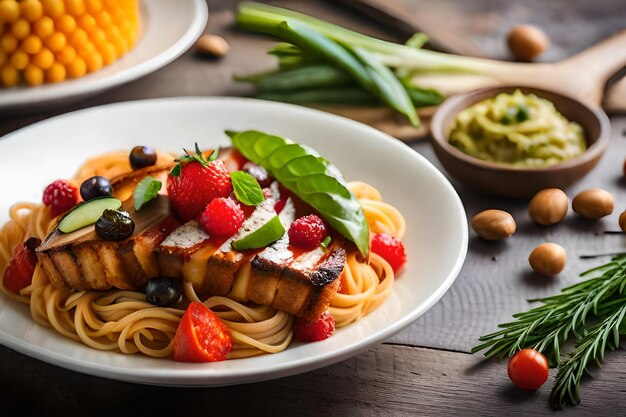
{"type": "MultiPolygon", "coordinates": [[[[506,363],[477,356],[381,345],[306,374],[223,388],[165,388],[110,381],[28,359],[0,347],[5,416],[554,416],[549,381],[520,391],[506,363]],[[36,391],[32,387],[37,387],[36,391]],[[45,389],[42,389],[45,387],[45,389]]],[[[585,381],[583,403],[567,416],[623,415],[626,368],[615,365],[585,381]]],[[[552,372],[553,373],[553,372],[552,372]]]]}

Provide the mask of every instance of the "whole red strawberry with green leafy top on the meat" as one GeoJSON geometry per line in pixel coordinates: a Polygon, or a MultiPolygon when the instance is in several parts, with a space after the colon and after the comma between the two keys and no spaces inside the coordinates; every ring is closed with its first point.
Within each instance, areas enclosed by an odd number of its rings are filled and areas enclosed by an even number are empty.
{"type": "Polygon", "coordinates": [[[178,159],[167,178],[170,202],[185,222],[195,219],[214,198],[228,197],[232,190],[224,161],[215,160],[214,155],[217,151],[207,160],[196,144],[196,153],[178,159]]]}

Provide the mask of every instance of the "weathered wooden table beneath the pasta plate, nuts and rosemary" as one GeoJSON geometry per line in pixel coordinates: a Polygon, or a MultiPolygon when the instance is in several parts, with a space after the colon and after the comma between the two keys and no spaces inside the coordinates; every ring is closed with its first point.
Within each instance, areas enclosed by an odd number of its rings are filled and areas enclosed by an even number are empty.
{"type": "MultiPolygon", "coordinates": [[[[0,118],[0,135],[56,114],[106,103],[248,93],[245,86],[234,84],[231,76],[234,72],[270,68],[272,60],[264,51],[271,41],[233,29],[233,5],[228,1],[215,3],[211,4],[207,30],[222,34],[230,42],[232,51],[224,59],[207,60],[188,52],[152,75],[80,103],[0,118]]],[[[393,39],[383,28],[332,2],[289,4],[393,39]]],[[[611,121],[610,150],[600,165],[567,193],[573,197],[584,188],[607,188],[616,197],[616,213],[598,222],[583,221],[569,213],[563,224],[542,228],[528,218],[527,202],[479,195],[453,182],[468,218],[486,208],[505,209],[515,216],[518,232],[500,243],[487,243],[471,234],[467,260],[452,288],[428,313],[383,345],[307,374],[212,389],[111,381],[67,371],[0,347],[0,398],[4,399],[0,414],[143,416],[229,410],[237,415],[552,415],[547,401],[552,380],[538,392],[522,392],[509,382],[506,363],[483,361],[481,356],[468,352],[478,336],[494,330],[512,313],[527,309],[527,298],[555,293],[575,282],[581,271],[606,260],[582,261],[579,255],[624,250],[622,235],[603,234],[604,230],[618,229],[617,217],[626,207],[622,174],[626,117],[613,117],[611,121]],[[556,278],[539,277],[527,265],[530,251],[543,241],[558,242],[568,251],[568,266],[556,278]]],[[[410,146],[440,167],[428,142],[410,146]]],[[[603,372],[584,383],[583,403],[566,413],[623,415],[624,382],[626,359],[622,352],[611,353],[603,372]]]]}

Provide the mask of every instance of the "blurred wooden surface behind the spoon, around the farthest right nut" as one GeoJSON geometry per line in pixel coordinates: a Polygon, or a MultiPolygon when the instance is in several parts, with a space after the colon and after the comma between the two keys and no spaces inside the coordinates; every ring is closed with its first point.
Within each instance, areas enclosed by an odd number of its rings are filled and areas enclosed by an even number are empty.
{"type": "Polygon", "coordinates": [[[462,55],[512,60],[506,37],[515,25],[532,24],[550,39],[540,62],[554,62],[592,46],[624,29],[626,7],[620,0],[340,0],[393,25],[409,37],[423,31],[438,49],[462,55]],[[398,24],[395,20],[404,23],[398,24]],[[575,28],[575,31],[573,31],[575,28]],[[575,34],[574,34],[575,33],[575,34]]]}

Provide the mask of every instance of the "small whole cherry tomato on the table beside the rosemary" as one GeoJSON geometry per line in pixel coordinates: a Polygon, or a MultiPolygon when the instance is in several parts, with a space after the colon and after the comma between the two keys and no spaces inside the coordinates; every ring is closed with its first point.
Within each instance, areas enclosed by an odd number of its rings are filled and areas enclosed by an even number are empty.
{"type": "Polygon", "coordinates": [[[509,360],[511,381],[521,389],[536,390],[548,380],[548,360],[534,349],[522,349],[509,360]]]}

